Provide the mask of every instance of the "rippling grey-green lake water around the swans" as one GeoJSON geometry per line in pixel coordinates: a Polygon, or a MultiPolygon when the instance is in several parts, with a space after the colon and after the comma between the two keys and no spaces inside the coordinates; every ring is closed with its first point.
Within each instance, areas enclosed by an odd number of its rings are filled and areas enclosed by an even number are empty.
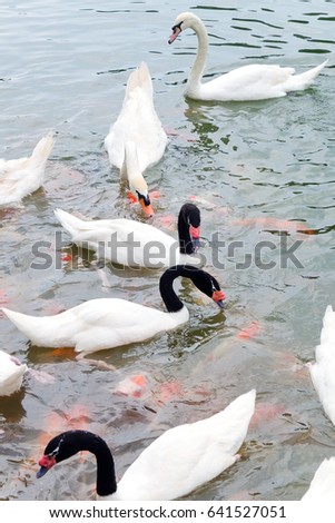
{"type": "Polygon", "coordinates": [[[121,476],[162,431],[207,417],[253,387],[259,415],[242,461],[187,499],[299,500],[323,458],[335,454],[334,426],[304,366],[314,359],[326,306],[335,305],[334,2],[221,3],[1,2],[0,156],[29,155],[57,131],[43,188],[1,209],[1,304],[42,315],[118,296],[162,308],[159,273],[98,268],[91,253],[71,249],[67,234],[62,250],[72,262],[61,262],[56,245],[57,207],[144,220],[104,149],[128,76],[141,61],[169,134],[162,160],[145,175],[160,193],[152,223],[176,235],[180,206],[195,198],[203,253],[227,296],[223,314],[179,280],[189,324],[93,354],[106,368],[77,362],[72,351],[30,346],[1,317],[1,348],[53,378],[28,374],[18,394],[0,401],[2,500],[92,499],[91,457],[76,456],[36,480],[48,438],[63,430],[99,433],[121,476]],[[329,62],[313,87],[285,98],[186,100],[196,37],[187,31],[167,43],[185,10],[209,32],[206,78],[255,61],[297,71],[329,62]],[[41,240],[50,243],[52,264],[37,270],[32,246],[41,240]],[[134,375],[147,378],[144,394],[117,394],[134,375]]]}

